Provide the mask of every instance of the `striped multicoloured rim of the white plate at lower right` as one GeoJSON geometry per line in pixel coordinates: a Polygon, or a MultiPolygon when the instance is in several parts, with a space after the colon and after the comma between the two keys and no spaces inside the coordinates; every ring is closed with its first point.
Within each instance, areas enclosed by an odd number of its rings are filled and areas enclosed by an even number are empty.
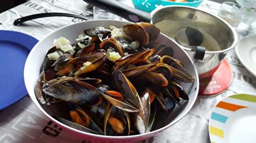
{"type": "Polygon", "coordinates": [[[232,115],[232,112],[236,112],[239,109],[253,105],[256,107],[256,104],[254,103],[256,103],[256,95],[248,94],[235,94],[220,101],[214,108],[214,111],[212,111],[209,120],[209,135],[211,143],[225,142],[224,125],[228,121],[228,117],[232,115]],[[250,104],[248,102],[250,102],[250,104]]]}

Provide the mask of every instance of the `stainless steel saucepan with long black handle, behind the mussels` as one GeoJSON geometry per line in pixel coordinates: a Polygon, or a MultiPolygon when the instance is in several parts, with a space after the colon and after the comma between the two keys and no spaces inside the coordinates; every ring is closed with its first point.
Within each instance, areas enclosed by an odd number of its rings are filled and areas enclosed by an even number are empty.
{"type": "Polygon", "coordinates": [[[168,37],[180,37],[183,44],[188,42],[182,33],[186,27],[193,27],[203,35],[200,46],[205,47],[203,60],[195,59],[196,51],[183,47],[197,68],[198,74],[214,70],[224,59],[227,51],[236,46],[238,35],[233,27],[218,16],[197,8],[165,6],[146,13],[113,0],[83,0],[90,5],[108,10],[132,22],[151,22],[168,37]]]}

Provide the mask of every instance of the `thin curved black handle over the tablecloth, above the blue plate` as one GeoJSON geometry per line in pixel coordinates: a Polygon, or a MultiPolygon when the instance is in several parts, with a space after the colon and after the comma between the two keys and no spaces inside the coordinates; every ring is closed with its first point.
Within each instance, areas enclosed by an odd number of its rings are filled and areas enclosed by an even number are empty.
{"type": "Polygon", "coordinates": [[[14,25],[19,25],[20,23],[37,19],[37,18],[42,18],[42,17],[52,17],[52,16],[66,16],[66,17],[75,17],[75,18],[80,18],[83,20],[87,20],[86,18],[80,16],[80,15],[75,15],[75,14],[69,14],[69,13],[57,13],[57,12],[52,12],[52,13],[39,13],[39,14],[33,14],[33,15],[28,15],[25,17],[18,18],[14,20],[13,24],[14,25]]]}

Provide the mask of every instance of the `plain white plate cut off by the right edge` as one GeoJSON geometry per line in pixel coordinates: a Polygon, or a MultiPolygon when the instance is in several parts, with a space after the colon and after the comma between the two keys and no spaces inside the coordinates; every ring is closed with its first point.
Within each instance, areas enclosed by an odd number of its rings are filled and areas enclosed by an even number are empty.
{"type": "Polygon", "coordinates": [[[256,77],[256,35],[239,40],[236,53],[244,67],[256,77]]]}

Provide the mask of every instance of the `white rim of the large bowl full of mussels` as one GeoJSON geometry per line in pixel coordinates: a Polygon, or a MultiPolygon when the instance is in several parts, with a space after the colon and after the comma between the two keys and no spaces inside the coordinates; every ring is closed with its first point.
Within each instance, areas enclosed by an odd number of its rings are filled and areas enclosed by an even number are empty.
{"type": "MultiPolygon", "coordinates": [[[[63,27],[58,28],[57,30],[55,30],[55,31],[49,33],[48,35],[46,35],[45,38],[41,39],[34,47],[37,47],[39,44],[41,44],[41,42],[42,42],[44,39],[46,39],[47,37],[49,37],[50,35],[52,35],[53,33],[57,32],[57,31],[61,31],[61,30],[65,29],[65,28],[67,28],[67,27],[69,27],[69,26],[72,27],[73,25],[76,25],[76,24],[82,24],[82,23],[83,23],[83,24],[86,24],[86,23],[91,22],[91,21],[96,21],[96,22],[102,22],[102,21],[103,21],[103,22],[105,22],[105,21],[118,21],[118,22],[122,22],[123,24],[133,23],[133,22],[127,22],[127,21],[121,21],[121,20],[108,20],[108,19],[81,21],[81,22],[69,24],[69,25],[66,25],[66,26],[63,26],[63,27]]],[[[164,37],[166,37],[166,38],[168,38],[170,41],[173,41],[176,45],[178,45],[178,46],[180,47],[180,45],[179,45],[176,41],[170,39],[169,37],[165,36],[165,35],[162,34],[162,33],[161,33],[161,35],[164,36],[164,37]]],[[[190,58],[190,56],[188,55],[188,53],[187,53],[183,48],[180,47],[180,49],[183,50],[183,52],[185,53],[185,55],[188,57],[188,60],[189,60],[191,63],[193,63],[193,61],[191,60],[191,58],[190,58]]],[[[28,62],[28,61],[30,61],[30,59],[31,59],[31,54],[34,53],[34,51],[35,51],[35,48],[33,48],[33,49],[30,51],[30,53],[29,53],[29,55],[28,55],[28,58],[27,58],[27,60],[26,60],[26,63],[25,63],[25,68],[24,68],[24,80],[25,80],[26,89],[27,89],[27,87],[29,87],[29,84],[30,84],[29,81],[28,81],[29,75],[27,74],[27,73],[29,73],[29,72],[27,72],[27,67],[29,66],[29,62],[28,62]]],[[[151,131],[151,132],[148,132],[148,133],[144,133],[144,134],[129,135],[129,136],[127,136],[127,135],[125,135],[125,136],[108,136],[108,135],[99,135],[99,134],[93,134],[93,133],[88,133],[88,132],[83,132],[83,131],[77,130],[77,129],[75,129],[75,128],[72,128],[72,127],[70,127],[70,126],[67,126],[67,125],[65,125],[65,124],[63,124],[63,123],[61,123],[61,122],[59,122],[58,120],[56,120],[56,119],[54,119],[52,116],[50,116],[50,115],[41,107],[41,105],[39,104],[39,102],[38,102],[38,100],[36,99],[36,97],[34,97],[34,96],[35,96],[34,92],[31,92],[31,91],[28,90],[28,94],[29,94],[29,96],[31,97],[31,99],[32,99],[32,101],[34,102],[34,104],[37,106],[37,108],[39,108],[39,110],[40,110],[42,113],[44,113],[44,115],[45,115],[48,119],[50,119],[51,121],[55,122],[56,124],[59,124],[60,126],[63,126],[63,127],[67,128],[67,129],[73,131],[73,132],[80,133],[80,134],[83,134],[83,135],[92,136],[92,137],[97,137],[97,138],[106,138],[106,139],[128,139],[128,138],[129,138],[129,139],[132,139],[132,138],[141,138],[141,137],[145,137],[145,136],[154,136],[154,134],[157,134],[157,133],[159,133],[159,132],[161,132],[161,131],[164,131],[164,130],[166,130],[167,128],[169,128],[170,126],[172,126],[172,125],[176,124],[178,121],[180,121],[180,120],[188,113],[188,111],[193,107],[193,105],[195,104],[196,99],[197,99],[197,97],[198,97],[198,92],[199,92],[199,76],[198,76],[198,72],[197,72],[197,70],[196,70],[195,65],[193,64],[192,66],[193,66],[193,70],[195,71],[195,74],[196,74],[196,77],[195,77],[196,81],[193,82],[193,84],[196,84],[196,90],[195,90],[195,91],[196,91],[196,92],[195,92],[195,93],[196,93],[196,96],[195,96],[195,99],[194,99],[194,100],[189,100],[189,102],[191,102],[191,105],[187,107],[187,110],[186,110],[185,112],[183,112],[183,114],[182,114],[179,118],[176,118],[175,120],[173,120],[173,121],[172,121],[172,122],[173,122],[172,124],[169,123],[169,124],[167,124],[166,126],[164,126],[164,127],[162,127],[162,128],[159,128],[159,129],[157,129],[157,130],[154,130],[154,131],[151,131]],[[32,95],[33,95],[33,96],[32,96],[32,95]]]]}

